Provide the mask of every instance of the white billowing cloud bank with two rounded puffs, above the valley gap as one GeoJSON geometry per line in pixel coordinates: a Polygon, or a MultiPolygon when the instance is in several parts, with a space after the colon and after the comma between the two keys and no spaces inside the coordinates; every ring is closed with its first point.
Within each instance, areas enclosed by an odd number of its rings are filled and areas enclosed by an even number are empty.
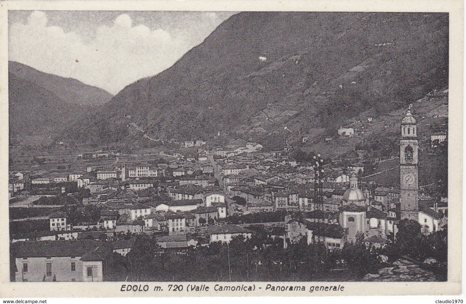
{"type": "Polygon", "coordinates": [[[128,14],[100,26],[90,40],[47,26],[47,15],[30,14],[26,24],[9,28],[9,60],[64,77],[72,77],[116,94],[136,80],[169,68],[193,45],[164,29],[133,22],[128,14]]]}

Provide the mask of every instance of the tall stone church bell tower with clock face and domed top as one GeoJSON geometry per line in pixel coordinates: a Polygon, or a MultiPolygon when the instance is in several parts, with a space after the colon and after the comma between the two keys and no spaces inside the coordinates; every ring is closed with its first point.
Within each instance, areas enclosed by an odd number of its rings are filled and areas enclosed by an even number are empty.
{"type": "Polygon", "coordinates": [[[408,110],[401,122],[400,211],[401,219],[418,221],[418,133],[416,119],[408,110]]]}

